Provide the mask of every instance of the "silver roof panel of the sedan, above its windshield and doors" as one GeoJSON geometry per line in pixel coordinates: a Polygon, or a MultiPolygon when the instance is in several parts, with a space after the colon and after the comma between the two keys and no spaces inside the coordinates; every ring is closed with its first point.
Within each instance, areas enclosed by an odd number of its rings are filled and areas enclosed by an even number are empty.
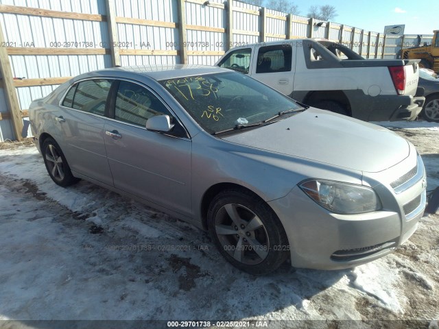
{"type": "Polygon", "coordinates": [[[209,73],[230,72],[218,66],[190,65],[190,64],[170,64],[170,65],[139,65],[139,66],[120,66],[111,69],[103,69],[86,73],[86,75],[115,75],[125,77],[130,73],[134,75],[145,75],[154,80],[174,79],[176,77],[187,77],[193,75],[204,75],[209,73]]]}

